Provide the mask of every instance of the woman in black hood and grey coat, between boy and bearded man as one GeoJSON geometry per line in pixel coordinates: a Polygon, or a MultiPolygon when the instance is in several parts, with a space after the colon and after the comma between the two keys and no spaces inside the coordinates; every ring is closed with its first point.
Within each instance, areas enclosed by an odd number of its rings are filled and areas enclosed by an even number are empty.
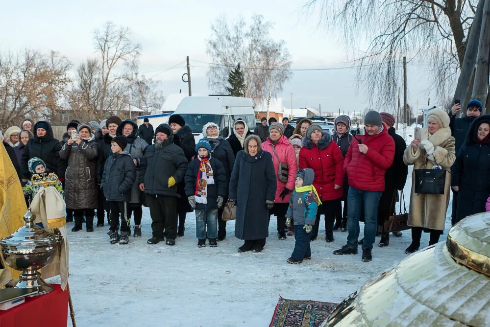
{"type": "MultiPolygon", "coordinates": [[[[126,119],[119,124],[116,135],[126,137],[127,145],[124,151],[131,155],[134,165],[136,166],[136,181],[140,177],[140,164],[145,155],[148,143],[138,136],[138,125],[131,120],[126,119]]],[[[127,218],[131,219],[134,214],[134,232],[133,237],[141,237],[141,218],[143,217],[143,208],[141,203],[141,191],[138,183],[134,183],[131,188],[131,200],[127,204],[127,218]]]]}

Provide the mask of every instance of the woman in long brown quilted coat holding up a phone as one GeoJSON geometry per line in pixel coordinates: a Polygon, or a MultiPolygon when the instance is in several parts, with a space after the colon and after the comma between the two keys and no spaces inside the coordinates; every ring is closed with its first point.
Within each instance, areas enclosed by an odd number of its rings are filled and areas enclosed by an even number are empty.
{"type": "Polygon", "coordinates": [[[92,134],[92,127],[80,123],[75,139],[69,138],[59,154],[67,161],[65,172],[65,202],[68,210],[73,210],[75,226],[72,232],[82,229],[85,214],[87,232],[94,231],[94,209],[97,208],[98,186],[96,177],[98,145],[92,134]]]}

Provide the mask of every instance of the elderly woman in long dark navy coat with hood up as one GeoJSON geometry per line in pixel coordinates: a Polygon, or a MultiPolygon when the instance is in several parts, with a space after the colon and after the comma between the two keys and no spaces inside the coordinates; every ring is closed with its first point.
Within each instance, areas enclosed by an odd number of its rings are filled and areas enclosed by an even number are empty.
{"type": "Polygon", "coordinates": [[[238,252],[264,249],[276,187],[272,155],[262,149],[258,136],[248,136],[237,153],[229,188],[230,202],[238,205],[235,236],[245,240],[238,252]]]}

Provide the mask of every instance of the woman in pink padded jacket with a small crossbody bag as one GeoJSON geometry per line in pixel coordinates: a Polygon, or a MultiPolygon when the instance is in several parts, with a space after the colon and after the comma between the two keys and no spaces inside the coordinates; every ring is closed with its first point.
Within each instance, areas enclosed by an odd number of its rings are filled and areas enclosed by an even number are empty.
{"type": "Polygon", "coordinates": [[[298,167],[293,145],[291,145],[289,140],[284,136],[283,124],[273,122],[270,125],[269,137],[262,143],[262,148],[272,155],[277,183],[274,207],[269,210],[269,218],[271,214],[277,217],[277,235],[279,236],[279,239],[286,239],[285,216],[286,211],[288,210],[291,192],[293,192],[294,189],[294,179],[298,167]],[[288,167],[288,174],[287,176],[284,176],[284,178],[287,178],[286,183],[280,181],[279,163],[282,163],[283,166],[287,165],[288,167]]]}

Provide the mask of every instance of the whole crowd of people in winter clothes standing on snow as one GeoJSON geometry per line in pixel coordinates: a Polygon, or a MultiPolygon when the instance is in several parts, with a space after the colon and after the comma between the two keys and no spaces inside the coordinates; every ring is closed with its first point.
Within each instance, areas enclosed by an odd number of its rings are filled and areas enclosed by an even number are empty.
{"type": "Polygon", "coordinates": [[[408,165],[448,173],[442,194],[416,193],[412,174],[407,254],[419,249],[422,232],[430,233],[429,245],[439,241],[451,187],[452,224],[490,210],[490,115],[481,116],[478,100],[468,102],[466,117],[456,118],[459,111],[459,104],[449,115],[432,109],[408,147],[395,133],[395,118],[376,111],[366,113],[365,133],[354,136],[345,115],[335,119],[333,135],[308,118],[294,128],[287,117],[264,117],[253,132],[237,119],[227,139],[208,122],[196,144],[184,118],[172,115],[156,128],[147,118],[141,126],[116,116],[100,123],[72,120],[61,141],[48,121],[25,120],[2,139],[27,203],[32,174],[58,176],[72,232],[84,223],[93,232],[97,214],[97,227],[107,218],[110,243],[127,244],[130,236],[142,237],[146,206],[152,231],[147,243],[172,246],[185,233],[187,213],[195,211],[197,246],[207,240],[216,247],[227,237],[223,212],[229,204],[236,206],[235,237],[244,241],[239,252],[262,251],[275,216],[277,237],[296,239],[287,261],[301,263],[311,258],[310,242],[319,237],[323,216],[326,242],[334,241],[334,231],[347,232],[335,255],[355,255],[361,245],[362,260],[370,261],[376,235],[380,247],[390,244],[384,223],[401,200],[408,165]]]}

